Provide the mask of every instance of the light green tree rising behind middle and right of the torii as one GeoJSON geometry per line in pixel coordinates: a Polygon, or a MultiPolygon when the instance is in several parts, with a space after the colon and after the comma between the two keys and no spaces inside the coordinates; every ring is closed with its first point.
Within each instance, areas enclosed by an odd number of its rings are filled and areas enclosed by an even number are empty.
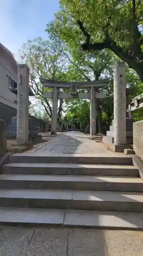
{"type": "MultiPolygon", "coordinates": [[[[46,30],[51,38],[55,38],[59,51],[69,60],[70,66],[68,66],[67,71],[68,80],[92,81],[101,78],[112,78],[113,65],[117,60],[116,55],[113,55],[109,50],[103,50],[101,52],[83,52],[79,42],[77,43],[77,37],[69,41],[61,37],[61,27],[59,27],[59,23],[56,24],[56,19],[54,22],[47,25],[46,30]]],[[[98,91],[100,91],[100,89],[97,90],[97,92],[98,91]]],[[[102,132],[101,102],[102,100],[100,99],[96,101],[99,133],[102,132]]]]}

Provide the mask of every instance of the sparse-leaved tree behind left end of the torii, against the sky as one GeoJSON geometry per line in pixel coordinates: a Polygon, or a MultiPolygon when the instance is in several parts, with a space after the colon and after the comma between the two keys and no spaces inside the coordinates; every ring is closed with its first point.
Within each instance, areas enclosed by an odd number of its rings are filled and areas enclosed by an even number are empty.
{"type": "MultiPolygon", "coordinates": [[[[30,67],[30,86],[35,93],[36,104],[42,104],[47,117],[51,118],[52,102],[50,99],[43,98],[43,92],[50,92],[51,89],[44,89],[39,79],[65,80],[67,65],[65,58],[63,59],[62,54],[57,51],[55,41],[49,38],[44,41],[41,37],[33,41],[28,40],[26,44],[23,44],[20,55],[22,63],[27,63],[30,67]]],[[[59,116],[62,114],[62,104],[61,99],[58,108],[59,116]]]]}

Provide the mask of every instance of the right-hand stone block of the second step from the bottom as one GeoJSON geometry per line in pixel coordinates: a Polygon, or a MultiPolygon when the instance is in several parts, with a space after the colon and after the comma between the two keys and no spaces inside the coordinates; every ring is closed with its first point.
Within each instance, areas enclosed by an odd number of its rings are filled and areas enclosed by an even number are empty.
{"type": "Polygon", "coordinates": [[[72,209],[143,212],[143,193],[120,191],[74,191],[72,209]]]}

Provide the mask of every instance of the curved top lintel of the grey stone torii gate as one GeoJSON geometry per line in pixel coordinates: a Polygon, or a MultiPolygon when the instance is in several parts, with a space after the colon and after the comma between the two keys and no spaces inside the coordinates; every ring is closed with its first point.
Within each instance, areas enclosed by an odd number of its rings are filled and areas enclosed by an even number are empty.
{"type": "Polygon", "coordinates": [[[55,81],[55,80],[48,80],[44,78],[40,78],[40,82],[44,84],[44,87],[59,87],[59,88],[70,88],[71,84],[77,84],[78,88],[89,88],[89,87],[104,87],[108,84],[111,80],[110,79],[101,79],[97,81],[84,81],[84,82],[62,82],[62,81],[55,81]]]}

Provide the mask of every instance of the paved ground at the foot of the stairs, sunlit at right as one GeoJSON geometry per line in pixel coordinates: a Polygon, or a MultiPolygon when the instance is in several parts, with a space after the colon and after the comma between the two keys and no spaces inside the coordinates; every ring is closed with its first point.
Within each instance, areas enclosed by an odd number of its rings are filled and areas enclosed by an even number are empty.
{"type": "Polygon", "coordinates": [[[143,232],[0,228],[0,256],[142,256],[143,232]]]}

